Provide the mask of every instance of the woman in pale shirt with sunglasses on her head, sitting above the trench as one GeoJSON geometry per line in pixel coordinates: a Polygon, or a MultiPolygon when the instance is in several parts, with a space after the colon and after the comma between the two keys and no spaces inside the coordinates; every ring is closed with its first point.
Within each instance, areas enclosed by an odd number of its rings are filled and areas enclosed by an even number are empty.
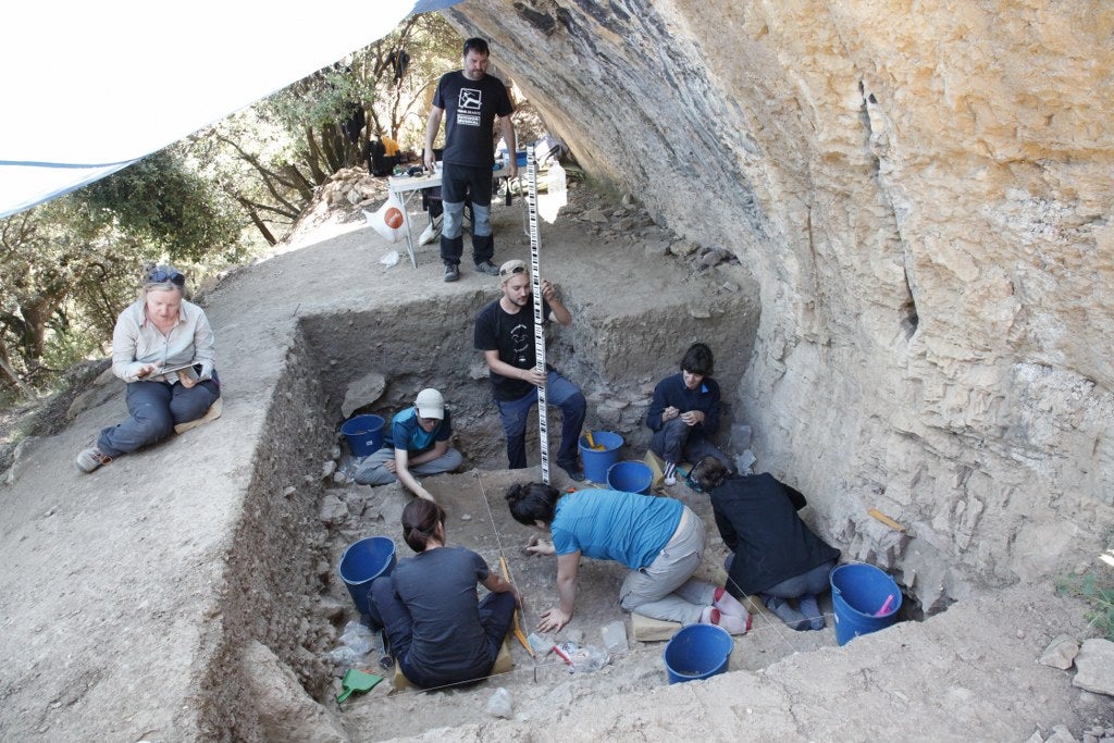
{"type": "Polygon", "coordinates": [[[204,417],[221,397],[213,329],[205,311],[183,299],[185,285],[174,266],[154,266],[139,300],[116,319],[113,373],[127,382],[130,418],[104,429],[77,456],[82,472],[162,441],[175,426],[204,417]],[[182,366],[188,368],[162,371],[182,366]]]}

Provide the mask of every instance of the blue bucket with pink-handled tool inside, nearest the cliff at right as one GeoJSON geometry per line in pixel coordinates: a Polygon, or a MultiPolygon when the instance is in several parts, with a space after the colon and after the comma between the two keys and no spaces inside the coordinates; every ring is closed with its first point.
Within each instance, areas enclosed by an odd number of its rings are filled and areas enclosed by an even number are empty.
{"type": "Polygon", "coordinates": [[[897,581],[873,565],[850,563],[837,566],[829,577],[836,609],[836,642],[847,645],[859,635],[885,629],[897,619],[901,589],[897,581]],[[890,598],[892,596],[892,598],[890,598]],[[886,614],[878,613],[889,602],[886,614]]]}

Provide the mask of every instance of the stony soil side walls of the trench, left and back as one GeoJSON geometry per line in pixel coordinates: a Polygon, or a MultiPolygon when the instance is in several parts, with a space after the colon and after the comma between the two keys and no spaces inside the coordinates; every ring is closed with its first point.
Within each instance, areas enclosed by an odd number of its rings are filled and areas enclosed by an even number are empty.
{"type": "MultiPolygon", "coordinates": [[[[418,389],[437,387],[453,409],[466,466],[505,468],[486,366],[471,338],[459,332],[459,319],[473,316],[488,301],[476,292],[439,304],[325,312],[295,321],[231,540],[219,608],[204,628],[208,641],[202,646],[214,648],[195,694],[205,737],[346,740],[336,720],[313,701],[324,701],[333,688],[325,653],[350,614],[348,602],[338,604],[329,595],[330,581],[338,584],[333,574],[342,547],[319,518],[332,481],[325,466],[340,443],[341,401],[348,385],[371,371],[382,373],[387,387],[367,410],[388,418],[418,389]],[[407,322],[395,322],[399,316],[407,322]]],[[[582,307],[574,292],[566,302],[574,313],[582,307]]],[[[675,371],[678,338],[709,342],[723,369],[743,369],[749,361],[759,322],[752,297],[729,295],[709,314],[677,310],[618,312],[585,323],[553,346],[564,360],[563,371],[584,380],[586,395],[595,401],[587,426],[620,432],[636,453],[647,442],[642,418],[653,381],[675,371]]],[[[729,405],[725,429],[730,422],[729,405]]],[[[368,528],[349,537],[368,536],[380,525],[368,528]]]]}

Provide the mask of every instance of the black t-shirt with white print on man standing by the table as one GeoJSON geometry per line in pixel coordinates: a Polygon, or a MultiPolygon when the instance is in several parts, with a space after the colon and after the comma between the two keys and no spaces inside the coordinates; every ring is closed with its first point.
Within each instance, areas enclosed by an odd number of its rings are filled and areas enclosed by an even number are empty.
{"type": "Polygon", "coordinates": [[[469,80],[460,70],[441,76],[433,106],[444,109],[444,155],[450,165],[495,164],[495,118],[515,111],[502,80],[485,75],[469,80]]]}

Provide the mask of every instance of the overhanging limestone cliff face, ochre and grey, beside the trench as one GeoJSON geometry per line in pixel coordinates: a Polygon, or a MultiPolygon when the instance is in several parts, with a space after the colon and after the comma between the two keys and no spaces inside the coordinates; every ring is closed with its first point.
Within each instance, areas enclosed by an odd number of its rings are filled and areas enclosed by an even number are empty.
{"type": "Polygon", "coordinates": [[[1114,525],[1114,6],[467,0],[589,170],[761,285],[760,467],[926,608],[1114,525]],[[866,516],[911,527],[898,539],[866,516]]]}

